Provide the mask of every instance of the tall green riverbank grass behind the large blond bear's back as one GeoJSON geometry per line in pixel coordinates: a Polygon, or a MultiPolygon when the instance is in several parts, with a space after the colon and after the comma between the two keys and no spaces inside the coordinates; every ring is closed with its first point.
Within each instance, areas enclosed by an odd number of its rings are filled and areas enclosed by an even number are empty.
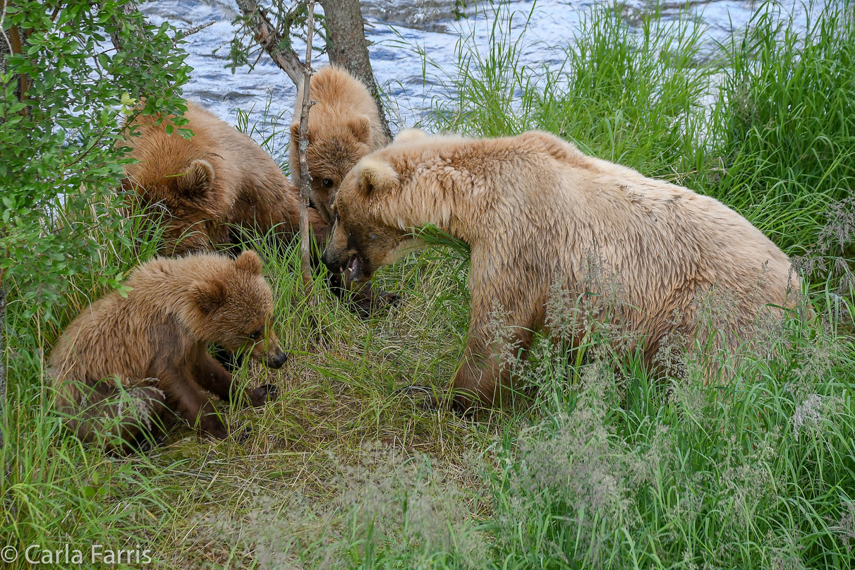
{"type": "MultiPolygon", "coordinates": [[[[621,9],[584,15],[560,68],[528,69],[522,35],[497,9],[486,52],[457,45],[428,130],[503,136],[538,128],[600,158],[716,197],[781,248],[815,243],[823,213],[852,192],[855,21],[848,3],[799,30],[764,3],[744,34],[711,46],[699,21],[631,25],[621,9]],[[512,39],[515,38],[516,39],[512,39]]],[[[426,69],[430,69],[426,66],[426,69]]]]}

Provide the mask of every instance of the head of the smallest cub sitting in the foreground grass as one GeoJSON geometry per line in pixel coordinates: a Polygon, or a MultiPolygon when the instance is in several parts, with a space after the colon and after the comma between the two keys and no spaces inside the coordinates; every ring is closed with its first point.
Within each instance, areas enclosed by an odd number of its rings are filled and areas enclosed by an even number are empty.
{"type": "Polygon", "coordinates": [[[232,352],[249,350],[268,367],[281,367],[287,355],[273,332],[273,293],[261,260],[256,252],[244,251],[229,266],[192,285],[200,336],[232,352]]]}

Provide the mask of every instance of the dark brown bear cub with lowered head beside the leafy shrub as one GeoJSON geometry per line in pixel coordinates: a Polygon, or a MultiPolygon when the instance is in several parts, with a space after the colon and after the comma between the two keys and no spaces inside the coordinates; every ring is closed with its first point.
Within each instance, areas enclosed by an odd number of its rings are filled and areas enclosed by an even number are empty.
{"type": "MultiPolygon", "coordinates": [[[[183,128],[191,138],[166,133],[166,121],[139,116],[128,136],[123,185],[133,190],[153,213],[166,214],[162,252],[181,256],[235,244],[237,227],[262,234],[275,227],[278,238],[298,232],[299,192],[280,167],[243,132],[195,103],[187,103],[183,128]]],[[[327,226],[310,210],[312,230],[323,244],[327,226]]]]}

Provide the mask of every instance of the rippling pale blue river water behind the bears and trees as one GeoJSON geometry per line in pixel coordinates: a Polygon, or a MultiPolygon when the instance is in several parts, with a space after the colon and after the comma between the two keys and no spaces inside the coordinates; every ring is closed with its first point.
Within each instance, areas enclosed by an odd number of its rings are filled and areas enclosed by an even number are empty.
{"type": "MultiPolygon", "coordinates": [[[[464,9],[466,16],[456,19],[453,0],[372,0],[363,2],[366,35],[374,75],[392,102],[390,119],[393,130],[415,125],[429,107],[431,97],[447,89],[447,73],[457,65],[456,46],[460,38],[472,38],[477,49],[489,44],[492,24],[504,17],[504,29],[510,40],[521,39],[520,63],[531,69],[558,66],[564,50],[572,49],[574,32],[591,9],[590,0],[510,0],[492,5],[472,0],[464,9]],[[507,16],[512,14],[510,24],[507,16]],[[428,62],[428,65],[425,62],[428,62]],[[445,75],[444,75],[445,74],[445,75]]],[[[680,0],[661,2],[666,19],[693,17],[702,26],[704,42],[714,49],[716,42],[743,30],[759,3],[746,0],[680,0]]],[[[780,3],[782,15],[793,15],[796,25],[805,21],[805,6],[793,0],[780,3]]],[[[234,73],[228,64],[229,44],[239,25],[233,24],[239,9],[233,0],[154,0],[140,7],[151,23],[169,21],[179,28],[213,22],[187,38],[187,62],[192,79],[185,96],[202,103],[231,124],[238,121],[238,109],[249,111],[251,121],[267,106],[270,126],[277,129],[291,120],[295,88],[284,72],[267,54],[260,54],[254,68],[245,65],[234,73]]],[[[624,10],[629,21],[650,9],[645,0],[628,0],[624,10]]],[[[315,44],[321,44],[319,40],[315,44]]],[[[294,42],[301,59],[305,44],[294,42]]],[[[254,58],[252,60],[254,62],[254,58]]],[[[313,67],[326,62],[316,56],[313,67]]],[[[447,93],[446,93],[447,94],[447,93]]],[[[259,138],[259,133],[254,136],[259,138]]]]}

